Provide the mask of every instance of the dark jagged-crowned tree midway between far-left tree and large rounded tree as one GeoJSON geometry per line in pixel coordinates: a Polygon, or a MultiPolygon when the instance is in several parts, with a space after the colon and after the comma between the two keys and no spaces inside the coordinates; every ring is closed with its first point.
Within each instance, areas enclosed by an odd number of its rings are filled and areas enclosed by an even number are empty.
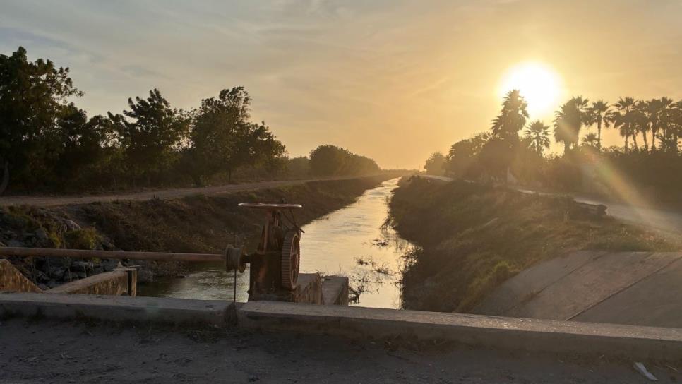
{"type": "Polygon", "coordinates": [[[172,109],[157,89],[150,90],[147,99],[128,99],[128,107],[123,116],[109,112],[109,119],[116,124],[128,167],[150,184],[152,175],[177,160],[189,118],[183,111],[172,109]]]}

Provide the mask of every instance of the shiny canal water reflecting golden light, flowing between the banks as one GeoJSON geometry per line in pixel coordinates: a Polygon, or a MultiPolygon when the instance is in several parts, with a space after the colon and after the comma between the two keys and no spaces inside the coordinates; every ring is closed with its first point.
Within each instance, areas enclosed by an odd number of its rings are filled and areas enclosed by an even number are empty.
{"type": "MultiPolygon", "coordinates": [[[[302,227],[301,272],[348,276],[351,305],[402,308],[400,268],[411,244],[383,225],[397,181],[385,181],[355,203],[302,227]]],[[[233,289],[232,272],[225,272],[222,265],[200,265],[184,278],[141,284],[138,295],[231,301],[233,289]]],[[[248,267],[237,274],[237,301],[246,301],[247,289],[248,267]]]]}

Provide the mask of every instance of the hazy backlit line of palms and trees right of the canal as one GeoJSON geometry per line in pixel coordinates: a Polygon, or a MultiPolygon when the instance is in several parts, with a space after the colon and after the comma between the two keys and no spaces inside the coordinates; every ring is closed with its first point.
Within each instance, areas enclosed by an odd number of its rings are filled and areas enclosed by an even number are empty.
{"type": "Polygon", "coordinates": [[[511,172],[525,184],[571,191],[585,185],[586,166],[596,167],[600,192],[617,192],[608,189],[618,174],[669,200],[682,187],[682,100],[621,97],[611,104],[577,96],[559,106],[551,126],[528,119],[527,102],[512,90],[488,130],[458,141],[446,155],[434,153],[424,167],[464,179],[501,180],[511,172]],[[604,148],[605,129],[616,129],[623,146],[604,148]],[[563,145],[561,155],[546,153],[552,139],[563,145]]]}

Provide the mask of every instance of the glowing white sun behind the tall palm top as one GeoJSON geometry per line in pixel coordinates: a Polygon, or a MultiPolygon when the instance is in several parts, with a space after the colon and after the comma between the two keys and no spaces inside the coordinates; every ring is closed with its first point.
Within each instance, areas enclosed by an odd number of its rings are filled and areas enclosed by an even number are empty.
{"type": "Polygon", "coordinates": [[[505,72],[498,96],[504,97],[510,90],[519,90],[528,102],[531,119],[542,118],[556,108],[563,87],[561,77],[549,66],[529,61],[517,64],[505,72]]]}

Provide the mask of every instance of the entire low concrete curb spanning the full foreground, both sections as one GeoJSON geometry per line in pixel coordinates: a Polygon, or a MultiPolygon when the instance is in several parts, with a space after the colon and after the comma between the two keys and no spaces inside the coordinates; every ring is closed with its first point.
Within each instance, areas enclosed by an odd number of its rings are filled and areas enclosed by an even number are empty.
{"type": "Polygon", "coordinates": [[[681,359],[682,330],[527,318],[322,306],[81,294],[0,294],[0,316],[193,323],[375,340],[438,340],[472,347],[681,359]],[[236,313],[235,313],[236,311],[236,313]]]}

